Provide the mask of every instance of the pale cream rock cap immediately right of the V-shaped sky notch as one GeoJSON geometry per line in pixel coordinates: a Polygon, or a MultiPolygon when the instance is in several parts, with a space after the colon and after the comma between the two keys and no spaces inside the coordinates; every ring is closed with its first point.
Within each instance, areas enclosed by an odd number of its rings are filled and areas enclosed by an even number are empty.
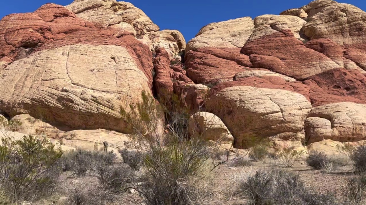
{"type": "Polygon", "coordinates": [[[202,47],[241,48],[254,29],[250,17],[210,23],[187,43],[186,52],[202,47]]]}

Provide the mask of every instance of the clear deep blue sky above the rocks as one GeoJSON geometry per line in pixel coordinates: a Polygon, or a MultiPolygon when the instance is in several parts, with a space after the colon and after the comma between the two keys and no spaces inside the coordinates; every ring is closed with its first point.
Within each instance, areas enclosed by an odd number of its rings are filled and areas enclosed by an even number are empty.
{"type": "MultiPolygon", "coordinates": [[[[33,12],[45,3],[70,4],[73,0],[10,0],[0,7],[0,18],[10,13],[33,12]]],[[[128,0],[126,0],[128,1],[128,0]]],[[[205,25],[244,16],[279,14],[306,5],[311,0],[130,0],[161,30],[176,29],[188,42],[205,25]]],[[[366,0],[338,0],[366,11],[366,0]]]]}

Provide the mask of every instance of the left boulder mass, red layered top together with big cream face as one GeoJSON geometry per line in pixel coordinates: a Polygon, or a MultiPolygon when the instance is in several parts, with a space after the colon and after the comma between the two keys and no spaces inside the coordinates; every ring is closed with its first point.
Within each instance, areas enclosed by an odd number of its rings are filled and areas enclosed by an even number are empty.
{"type": "Polygon", "coordinates": [[[132,35],[117,38],[55,4],[5,16],[0,27],[10,63],[0,70],[0,111],[11,117],[126,131],[120,107],[151,93],[152,53],[132,35]]]}

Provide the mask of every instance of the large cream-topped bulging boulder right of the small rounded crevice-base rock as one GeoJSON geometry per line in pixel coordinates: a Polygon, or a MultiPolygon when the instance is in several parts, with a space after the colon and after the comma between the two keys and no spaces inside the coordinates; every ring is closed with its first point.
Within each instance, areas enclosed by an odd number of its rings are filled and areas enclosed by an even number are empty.
{"type": "Polygon", "coordinates": [[[247,147],[247,140],[253,138],[302,141],[304,120],[312,107],[299,93],[251,86],[212,92],[205,105],[206,111],[223,120],[236,148],[247,147]]]}

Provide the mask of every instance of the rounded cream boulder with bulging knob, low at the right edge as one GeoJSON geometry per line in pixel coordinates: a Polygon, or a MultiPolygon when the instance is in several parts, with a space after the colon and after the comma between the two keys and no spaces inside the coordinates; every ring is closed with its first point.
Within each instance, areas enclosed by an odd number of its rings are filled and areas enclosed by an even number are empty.
{"type": "Polygon", "coordinates": [[[339,102],[314,107],[305,121],[306,142],[366,140],[365,121],[365,104],[339,102]]]}

